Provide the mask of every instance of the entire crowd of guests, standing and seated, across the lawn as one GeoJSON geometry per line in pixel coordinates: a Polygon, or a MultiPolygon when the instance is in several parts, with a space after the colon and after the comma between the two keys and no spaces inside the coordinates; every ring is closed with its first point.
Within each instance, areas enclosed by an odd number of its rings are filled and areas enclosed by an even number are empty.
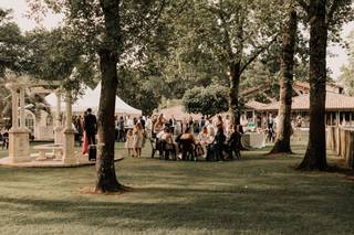
{"type": "MultiPolygon", "coordinates": [[[[294,131],[301,127],[301,118],[292,121],[294,131]]],[[[76,130],[75,140],[84,146],[96,143],[97,120],[91,109],[83,116],[73,117],[76,130]]],[[[115,117],[115,139],[125,142],[128,156],[142,157],[146,140],[152,142],[153,156],[158,152],[163,159],[196,159],[222,161],[240,157],[241,135],[243,130],[264,132],[268,141],[274,141],[277,117],[257,116],[253,121],[233,126],[230,117],[217,115],[212,118],[201,116],[198,119],[174,116],[165,118],[164,114],[152,117],[115,117]],[[250,125],[251,124],[251,125],[250,125]]],[[[84,148],[83,148],[84,149],[84,148]]],[[[83,150],[83,153],[86,151],[83,150]]]]}

